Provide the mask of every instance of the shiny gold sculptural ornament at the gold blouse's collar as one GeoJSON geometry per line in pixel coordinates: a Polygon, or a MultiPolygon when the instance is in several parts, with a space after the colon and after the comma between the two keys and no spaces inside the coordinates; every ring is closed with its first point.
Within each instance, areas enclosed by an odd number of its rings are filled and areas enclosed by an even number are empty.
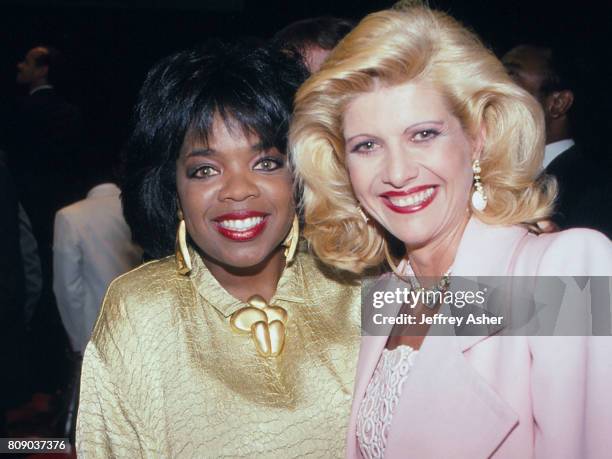
{"type": "Polygon", "coordinates": [[[279,356],[285,345],[285,325],[289,320],[287,310],[269,305],[259,295],[253,295],[247,304],[230,317],[232,330],[242,335],[250,334],[262,357],[279,356]]]}

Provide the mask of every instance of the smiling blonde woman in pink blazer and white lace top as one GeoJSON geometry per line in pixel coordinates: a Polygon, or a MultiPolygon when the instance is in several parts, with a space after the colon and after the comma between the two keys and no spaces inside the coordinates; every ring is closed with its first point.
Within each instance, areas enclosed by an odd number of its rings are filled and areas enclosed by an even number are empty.
{"type": "MultiPolygon", "coordinates": [[[[610,276],[600,233],[528,231],[555,198],[539,175],[543,139],[537,102],[453,18],[372,14],[297,95],[306,237],[360,272],[384,260],[390,233],[405,248],[390,265],[432,288],[450,275],[610,276]]],[[[408,335],[362,338],[348,457],[612,450],[609,337],[408,335]]]]}

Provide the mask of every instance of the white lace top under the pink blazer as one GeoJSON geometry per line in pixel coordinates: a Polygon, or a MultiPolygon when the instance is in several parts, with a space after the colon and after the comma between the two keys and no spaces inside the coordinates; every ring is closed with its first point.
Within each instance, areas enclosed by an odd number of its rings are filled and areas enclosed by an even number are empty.
{"type": "Polygon", "coordinates": [[[357,441],[365,459],[385,455],[391,419],[417,354],[402,345],[392,351],[384,349],[380,356],[357,415],[357,441]]]}

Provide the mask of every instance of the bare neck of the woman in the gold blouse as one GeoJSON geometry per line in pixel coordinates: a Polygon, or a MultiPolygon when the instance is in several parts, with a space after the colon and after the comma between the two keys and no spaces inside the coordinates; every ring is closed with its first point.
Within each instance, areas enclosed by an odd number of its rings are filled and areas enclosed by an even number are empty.
{"type": "Polygon", "coordinates": [[[210,273],[217,279],[221,287],[234,298],[246,302],[253,295],[260,295],[270,301],[278,281],[285,269],[285,256],[282,247],[272,252],[268,258],[255,266],[236,268],[219,264],[202,257],[210,273]]]}

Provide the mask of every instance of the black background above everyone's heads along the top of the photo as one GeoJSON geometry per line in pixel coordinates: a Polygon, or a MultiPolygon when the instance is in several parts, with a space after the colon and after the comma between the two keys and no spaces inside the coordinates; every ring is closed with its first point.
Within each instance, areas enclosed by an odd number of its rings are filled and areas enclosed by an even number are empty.
{"type": "MultiPolygon", "coordinates": [[[[71,62],[62,92],[81,107],[89,129],[120,145],[146,71],[159,58],[209,37],[271,37],[296,19],[335,15],[360,19],[388,0],[114,0],[0,2],[0,112],[9,117],[18,89],[15,64],[39,43],[71,62]]],[[[608,95],[612,19],[608,1],[513,2],[437,0],[497,53],[525,41],[571,49],[583,77],[581,132],[601,140],[612,129],[608,95]]],[[[10,123],[0,120],[2,127],[10,123]]],[[[1,146],[0,138],[0,146],[1,146]]],[[[602,142],[605,144],[605,142],[602,142]]]]}

